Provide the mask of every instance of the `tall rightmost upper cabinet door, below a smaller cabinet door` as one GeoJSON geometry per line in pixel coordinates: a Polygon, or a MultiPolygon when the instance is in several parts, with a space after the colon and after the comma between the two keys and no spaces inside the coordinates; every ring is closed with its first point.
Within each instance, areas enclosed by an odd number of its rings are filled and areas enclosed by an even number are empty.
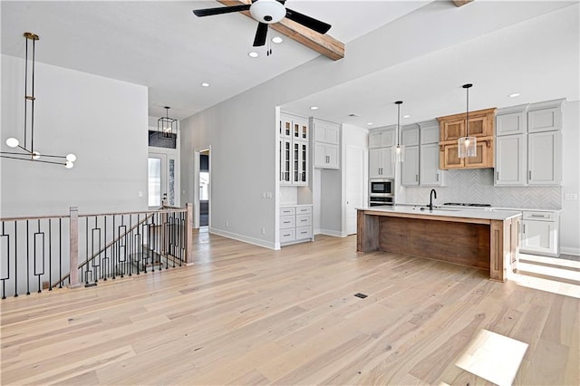
{"type": "Polygon", "coordinates": [[[559,185],[562,181],[562,135],[560,131],[527,136],[527,183],[559,185]]]}

